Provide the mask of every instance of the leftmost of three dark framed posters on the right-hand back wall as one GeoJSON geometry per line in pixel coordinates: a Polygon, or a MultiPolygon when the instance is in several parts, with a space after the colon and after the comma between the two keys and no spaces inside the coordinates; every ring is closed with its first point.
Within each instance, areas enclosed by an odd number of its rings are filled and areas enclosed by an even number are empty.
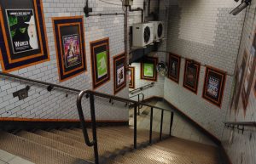
{"type": "Polygon", "coordinates": [[[177,83],[179,81],[180,60],[181,58],[177,54],[169,54],[168,78],[177,83]]]}

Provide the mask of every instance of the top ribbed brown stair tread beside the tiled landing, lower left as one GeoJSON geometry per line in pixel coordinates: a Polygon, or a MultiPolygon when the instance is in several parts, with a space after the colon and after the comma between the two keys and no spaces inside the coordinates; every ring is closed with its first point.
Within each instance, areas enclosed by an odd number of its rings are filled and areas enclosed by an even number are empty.
{"type": "Polygon", "coordinates": [[[0,148],[37,164],[73,164],[82,161],[62,151],[5,132],[0,135],[0,148]]]}

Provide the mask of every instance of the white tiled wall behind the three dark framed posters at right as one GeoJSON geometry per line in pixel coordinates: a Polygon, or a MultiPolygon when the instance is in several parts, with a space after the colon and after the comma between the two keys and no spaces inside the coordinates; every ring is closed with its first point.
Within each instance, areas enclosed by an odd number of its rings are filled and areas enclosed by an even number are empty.
{"type": "Polygon", "coordinates": [[[221,0],[173,1],[168,20],[167,51],[195,59],[202,66],[197,95],[183,88],[182,59],[179,84],[166,78],[164,96],[219,139],[229,108],[233,76],[227,76],[220,109],[201,98],[206,69],[203,65],[233,74],[244,18],[244,12],[237,16],[229,14],[235,5],[234,1],[221,0]]]}

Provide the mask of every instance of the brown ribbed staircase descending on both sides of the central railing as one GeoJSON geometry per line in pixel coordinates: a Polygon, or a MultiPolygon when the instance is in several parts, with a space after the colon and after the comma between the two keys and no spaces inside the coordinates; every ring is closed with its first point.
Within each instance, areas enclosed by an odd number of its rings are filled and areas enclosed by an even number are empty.
{"type": "MultiPolygon", "coordinates": [[[[88,133],[91,138],[90,130],[88,133]]],[[[146,130],[137,130],[137,150],[133,149],[133,129],[129,127],[99,127],[97,136],[100,163],[218,163],[218,152],[212,146],[174,137],[157,142],[159,133],[153,133],[154,144],[149,145],[146,130]]],[[[1,132],[0,150],[37,164],[94,161],[93,148],[84,144],[80,128],[1,132]]]]}

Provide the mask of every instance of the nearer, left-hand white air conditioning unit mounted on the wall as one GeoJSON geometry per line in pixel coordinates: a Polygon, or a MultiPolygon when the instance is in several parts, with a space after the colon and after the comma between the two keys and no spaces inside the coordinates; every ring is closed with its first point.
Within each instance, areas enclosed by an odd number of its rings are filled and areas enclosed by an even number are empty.
{"type": "Polygon", "coordinates": [[[154,24],[139,23],[132,25],[132,46],[143,48],[154,40],[154,24]]]}

